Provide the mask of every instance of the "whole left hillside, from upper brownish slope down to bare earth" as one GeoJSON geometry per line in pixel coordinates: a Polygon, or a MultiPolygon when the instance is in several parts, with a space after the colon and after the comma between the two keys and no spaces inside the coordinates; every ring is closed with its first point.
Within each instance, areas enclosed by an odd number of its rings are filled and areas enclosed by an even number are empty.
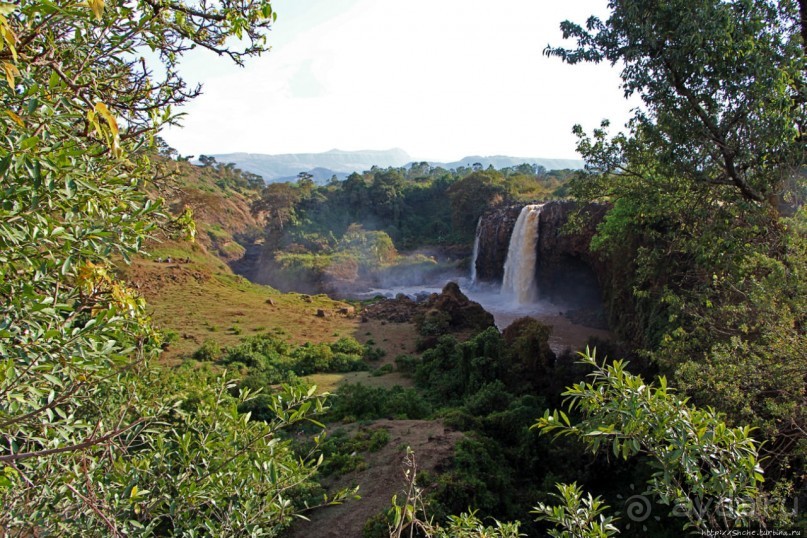
{"type": "MultiPolygon", "coordinates": [[[[281,293],[233,274],[225,260],[243,253],[235,237],[254,235],[259,230],[259,222],[249,211],[257,193],[226,184],[222,175],[210,168],[188,163],[168,166],[179,171],[176,186],[160,194],[175,214],[185,206],[193,209],[197,241],[156,238],[147,245],[149,256],[121,268],[124,277],[148,301],[157,325],[178,334],[161,362],[176,364],[190,357],[206,339],[228,346],[260,332],[285,336],[298,344],[330,342],[343,336],[369,341],[387,352],[371,367],[413,351],[415,333],[411,326],[362,323],[352,313],[353,307],[344,302],[324,295],[281,293]],[[165,261],[168,257],[171,263],[165,261]],[[325,317],[318,316],[318,311],[325,317]]],[[[371,377],[367,372],[322,374],[312,380],[321,390],[333,390],[344,381],[408,384],[397,374],[371,377]]]]}

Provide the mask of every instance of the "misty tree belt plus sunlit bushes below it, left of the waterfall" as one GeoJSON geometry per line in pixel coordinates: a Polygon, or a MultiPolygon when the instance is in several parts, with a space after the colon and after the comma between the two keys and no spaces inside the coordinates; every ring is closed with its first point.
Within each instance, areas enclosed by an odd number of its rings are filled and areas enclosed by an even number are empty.
{"type": "Polygon", "coordinates": [[[340,283],[395,282],[451,269],[433,256],[401,252],[450,252],[458,245],[467,251],[485,210],[561,196],[571,174],[529,164],[446,170],[413,163],[317,186],[301,173],[296,183],[267,185],[253,204],[265,223],[264,262],[272,265],[259,280],[281,289],[339,291],[340,283]]]}

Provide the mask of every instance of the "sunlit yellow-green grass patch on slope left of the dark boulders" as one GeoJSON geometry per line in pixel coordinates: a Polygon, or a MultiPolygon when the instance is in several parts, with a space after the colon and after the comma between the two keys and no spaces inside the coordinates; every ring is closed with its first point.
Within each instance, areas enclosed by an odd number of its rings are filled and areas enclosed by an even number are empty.
{"type": "Polygon", "coordinates": [[[172,245],[158,252],[173,253],[173,262],[154,261],[155,253],[152,259],[133,261],[122,272],[148,301],[157,326],[179,335],[161,362],[187,358],[207,339],[229,346],[269,332],[295,344],[332,342],[339,335],[355,334],[359,326],[355,316],[340,313],[348,305],[327,296],[281,293],[253,284],[198,249],[172,245]],[[175,262],[186,257],[190,263],[175,262]]]}

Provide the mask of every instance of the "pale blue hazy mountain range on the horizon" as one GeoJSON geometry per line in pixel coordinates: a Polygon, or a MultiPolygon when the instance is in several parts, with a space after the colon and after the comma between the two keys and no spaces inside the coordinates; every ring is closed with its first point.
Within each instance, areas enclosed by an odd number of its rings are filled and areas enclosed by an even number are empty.
{"type": "MultiPolygon", "coordinates": [[[[288,153],[284,155],[226,153],[213,155],[213,157],[220,163],[234,163],[242,170],[258,174],[267,183],[294,181],[300,172],[308,172],[317,183],[325,183],[333,176],[338,179],[344,179],[353,172],[363,172],[373,166],[380,168],[401,167],[414,161],[409,154],[399,148],[380,151],[342,151],[332,149],[323,153],[288,153]]],[[[539,159],[502,155],[492,157],[471,156],[449,163],[429,161],[432,166],[440,166],[446,169],[461,166],[471,167],[477,163],[484,168],[490,165],[493,165],[494,168],[505,168],[523,163],[543,166],[547,170],[583,167],[583,161],[578,159],[539,159]]]]}

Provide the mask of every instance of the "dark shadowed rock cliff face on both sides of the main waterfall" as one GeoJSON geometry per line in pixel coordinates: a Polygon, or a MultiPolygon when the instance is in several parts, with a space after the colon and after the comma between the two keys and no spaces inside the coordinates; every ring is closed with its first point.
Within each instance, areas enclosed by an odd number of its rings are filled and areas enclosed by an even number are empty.
{"type": "MultiPolygon", "coordinates": [[[[524,204],[508,206],[483,215],[476,261],[479,281],[501,281],[510,235],[522,207],[524,204]]],[[[576,303],[599,301],[598,286],[605,282],[607,267],[598,255],[589,251],[589,245],[607,207],[602,204],[584,206],[582,212],[590,218],[580,219],[574,231],[565,230],[579,207],[576,202],[552,201],[541,210],[536,281],[539,295],[544,298],[576,303]]]]}

